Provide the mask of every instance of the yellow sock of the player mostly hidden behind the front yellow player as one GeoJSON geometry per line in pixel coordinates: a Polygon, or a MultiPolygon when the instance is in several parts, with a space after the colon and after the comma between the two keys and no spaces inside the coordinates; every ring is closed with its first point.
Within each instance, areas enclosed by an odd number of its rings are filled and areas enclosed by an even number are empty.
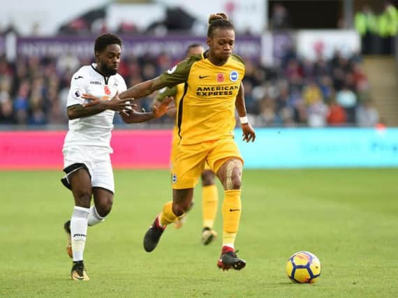
{"type": "Polygon", "coordinates": [[[213,228],[219,206],[219,192],[215,184],[202,187],[203,228],[213,228]]]}

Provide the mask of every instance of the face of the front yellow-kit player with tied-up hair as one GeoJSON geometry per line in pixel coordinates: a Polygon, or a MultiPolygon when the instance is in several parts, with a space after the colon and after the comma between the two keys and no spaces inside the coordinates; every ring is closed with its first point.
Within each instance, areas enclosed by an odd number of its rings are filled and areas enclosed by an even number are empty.
{"type": "Polygon", "coordinates": [[[227,61],[233,53],[235,45],[235,31],[233,29],[217,28],[213,36],[207,38],[210,56],[218,61],[227,61]]]}

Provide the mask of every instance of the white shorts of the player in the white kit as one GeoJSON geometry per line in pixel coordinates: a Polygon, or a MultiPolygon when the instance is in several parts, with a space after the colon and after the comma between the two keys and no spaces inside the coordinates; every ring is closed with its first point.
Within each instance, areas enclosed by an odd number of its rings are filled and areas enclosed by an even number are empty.
{"type": "MultiPolygon", "coordinates": [[[[75,163],[86,165],[91,176],[91,186],[108,189],[115,193],[115,181],[113,179],[112,164],[110,163],[109,149],[76,146],[64,148],[64,169],[75,163]]],[[[68,174],[66,173],[66,179],[68,174]]]]}

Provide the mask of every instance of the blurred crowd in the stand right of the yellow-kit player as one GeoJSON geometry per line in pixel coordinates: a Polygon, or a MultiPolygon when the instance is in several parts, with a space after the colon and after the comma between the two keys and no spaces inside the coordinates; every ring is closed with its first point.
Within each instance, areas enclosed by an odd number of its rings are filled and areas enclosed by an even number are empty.
{"type": "Polygon", "coordinates": [[[272,69],[249,61],[244,86],[258,126],[370,127],[379,121],[359,55],[335,52],[328,61],[307,61],[291,51],[272,69]]]}

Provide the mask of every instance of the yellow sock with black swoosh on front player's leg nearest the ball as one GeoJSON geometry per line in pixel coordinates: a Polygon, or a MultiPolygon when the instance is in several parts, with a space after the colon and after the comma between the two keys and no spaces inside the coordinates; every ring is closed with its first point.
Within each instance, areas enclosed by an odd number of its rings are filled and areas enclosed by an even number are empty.
{"type": "Polygon", "coordinates": [[[242,202],[240,200],[241,190],[230,190],[224,192],[223,202],[223,246],[232,246],[235,242],[239,228],[242,202]]]}

